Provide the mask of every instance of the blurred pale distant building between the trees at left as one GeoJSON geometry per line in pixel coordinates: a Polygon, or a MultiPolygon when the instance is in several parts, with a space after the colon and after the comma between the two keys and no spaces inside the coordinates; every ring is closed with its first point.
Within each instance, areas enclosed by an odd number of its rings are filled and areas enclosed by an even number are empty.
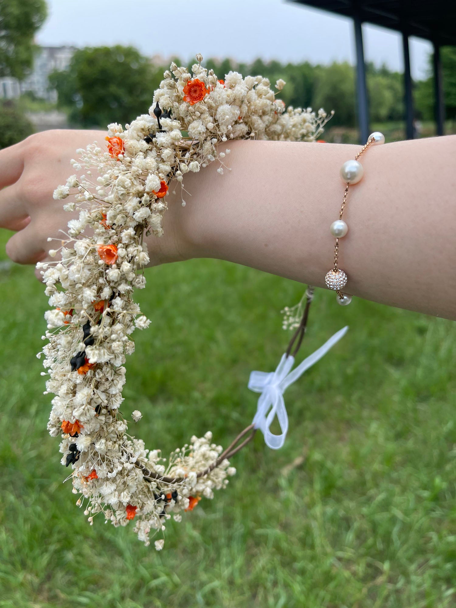
{"type": "Polygon", "coordinates": [[[16,78],[0,78],[0,98],[12,99],[26,91],[49,102],[57,102],[57,91],[48,91],[49,74],[54,70],[65,70],[76,50],[74,46],[43,46],[36,54],[33,71],[22,81],[16,78]]]}

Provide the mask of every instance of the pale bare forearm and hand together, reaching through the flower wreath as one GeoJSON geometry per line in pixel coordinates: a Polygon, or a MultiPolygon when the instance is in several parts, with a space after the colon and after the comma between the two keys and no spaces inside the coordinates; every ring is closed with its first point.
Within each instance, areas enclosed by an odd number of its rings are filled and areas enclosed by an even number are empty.
{"type": "MultiPolygon", "coordinates": [[[[50,260],[71,215],[54,188],[74,173],[77,148],[105,131],[55,130],[0,150],[0,227],[15,230],[7,254],[21,264],[50,260]]],[[[324,287],[333,267],[330,224],[339,218],[340,166],[360,146],[235,141],[224,159],[171,184],[165,236],[149,237],[151,265],[221,258],[324,287]],[[173,193],[175,191],[175,194],[173,193]]],[[[345,292],[390,306],[456,319],[456,136],[370,147],[359,159],[340,239],[345,292]]],[[[37,276],[40,277],[39,273],[37,276]]],[[[334,306],[336,305],[334,294],[334,306]]]]}

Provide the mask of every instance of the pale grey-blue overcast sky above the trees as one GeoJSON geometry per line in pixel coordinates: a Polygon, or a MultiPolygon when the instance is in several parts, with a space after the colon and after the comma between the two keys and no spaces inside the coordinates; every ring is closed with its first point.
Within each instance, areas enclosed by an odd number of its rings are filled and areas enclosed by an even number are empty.
{"type": "MultiPolygon", "coordinates": [[[[350,19],[284,0],[47,0],[49,17],[36,36],[42,46],[132,44],[145,55],[185,60],[308,60],[354,63],[350,19]]],[[[363,26],[365,58],[402,71],[398,33],[363,26]]],[[[427,74],[430,43],[410,41],[414,78],[427,74]]]]}

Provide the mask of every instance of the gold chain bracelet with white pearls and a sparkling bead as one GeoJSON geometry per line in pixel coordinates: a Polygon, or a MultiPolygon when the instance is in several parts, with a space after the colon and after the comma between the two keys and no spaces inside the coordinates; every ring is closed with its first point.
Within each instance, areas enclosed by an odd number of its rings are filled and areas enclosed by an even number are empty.
{"type": "Polygon", "coordinates": [[[325,283],[330,289],[334,289],[337,293],[337,303],[341,306],[347,306],[351,302],[351,295],[342,293],[342,289],[347,285],[347,274],[338,266],[339,260],[339,238],[345,237],[348,232],[348,226],[342,219],[345,211],[345,205],[347,204],[348,188],[350,184],[358,184],[364,175],[364,168],[361,162],[358,162],[359,157],[363,152],[367,150],[369,146],[375,146],[378,143],[385,143],[385,136],[382,133],[376,131],[371,133],[367,139],[367,143],[361,148],[356,154],[354,160],[346,161],[340,167],[340,178],[345,184],[344,198],[342,198],[342,205],[340,206],[339,219],[336,219],[331,224],[331,234],[336,237],[336,244],[334,245],[334,266],[330,271],[326,272],[325,283]]]}

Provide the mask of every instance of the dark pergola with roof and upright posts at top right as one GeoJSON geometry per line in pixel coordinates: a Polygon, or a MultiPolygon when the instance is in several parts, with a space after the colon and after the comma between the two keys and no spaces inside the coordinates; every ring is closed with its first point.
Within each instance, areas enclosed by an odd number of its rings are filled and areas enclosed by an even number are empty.
{"type": "Polygon", "coordinates": [[[410,76],[409,36],[429,40],[434,46],[435,121],[437,134],[443,135],[444,102],[440,47],[456,44],[456,2],[454,0],[291,0],[316,9],[353,19],[356,48],[356,97],[361,140],[369,135],[369,111],[362,43],[363,22],[401,32],[404,53],[404,101],[407,139],[413,139],[413,97],[410,76]]]}

